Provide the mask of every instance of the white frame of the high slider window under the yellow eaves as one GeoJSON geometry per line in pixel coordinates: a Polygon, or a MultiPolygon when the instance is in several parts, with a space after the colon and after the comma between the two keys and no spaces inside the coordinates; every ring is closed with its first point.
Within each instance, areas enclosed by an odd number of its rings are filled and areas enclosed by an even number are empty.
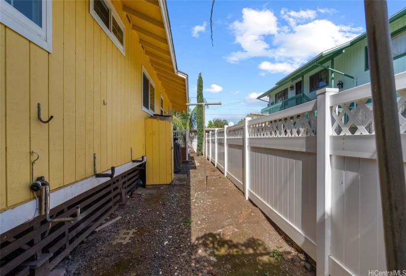
{"type": "Polygon", "coordinates": [[[114,8],[113,4],[109,0],[102,0],[104,3],[107,5],[109,9],[109,27],[107,27],[104,22],[101,20],[101,18],[97,15],[97,13],[94,11],[94,0],[90,0],[90,14],[92,14],[94,20],[100,25],[100,28],[103,29],[104,33],[108,37],[110,37],[111,41],[113,41],[114,45],[120,50],[120,52],[125,56],[125,25],[123,21],[121,21],[121,18],[119,14],[117,13],[116,9],[114,8]],[[113,20],[112,17],[116,20],[116,22],[119,24],[119,26],[123,29],[123,45],[121,45],[120,41],[117,39],[116,35],[112,33],[112,24],[113,20]]]}

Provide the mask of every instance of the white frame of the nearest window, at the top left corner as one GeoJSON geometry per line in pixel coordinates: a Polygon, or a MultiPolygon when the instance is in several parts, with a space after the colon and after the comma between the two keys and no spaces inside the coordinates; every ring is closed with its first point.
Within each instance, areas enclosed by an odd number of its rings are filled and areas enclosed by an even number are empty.
{"type": "Polygon", "coordinates": [[[0,0],[0,22],[52,53],[52,1],[42,0],[42,28],[5,0],[0,0]]]}

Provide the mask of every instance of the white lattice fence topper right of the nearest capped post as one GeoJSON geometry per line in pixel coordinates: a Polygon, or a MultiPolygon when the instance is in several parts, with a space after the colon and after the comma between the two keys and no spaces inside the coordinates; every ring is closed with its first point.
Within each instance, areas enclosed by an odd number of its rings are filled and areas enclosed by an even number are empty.
{"type": "MultiPolygon", "coordinates": [[[[375,134],[371,98],[338,104],[331,107],[332,135],[375,134]]],[[[400,132],[406,132],[406,98],[398,100],[400,132]]]]}

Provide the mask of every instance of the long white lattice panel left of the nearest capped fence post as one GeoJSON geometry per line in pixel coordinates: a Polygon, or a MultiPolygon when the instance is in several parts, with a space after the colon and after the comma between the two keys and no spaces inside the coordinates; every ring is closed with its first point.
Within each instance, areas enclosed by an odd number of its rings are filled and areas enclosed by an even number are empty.
{"type": "Polygon", "coordinates": [[[251,124],[248,130],[249,137],[267,138],[316,136],[317,116],[313,113],[314,112],[302,113],[278,120],[251,124]]]}

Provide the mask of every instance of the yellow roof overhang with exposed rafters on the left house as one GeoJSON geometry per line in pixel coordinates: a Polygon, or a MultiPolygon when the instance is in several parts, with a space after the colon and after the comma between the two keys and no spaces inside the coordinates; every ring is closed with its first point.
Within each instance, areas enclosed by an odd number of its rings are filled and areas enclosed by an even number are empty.
{"type": "Polygon", "coordinates": [[[166,0],[122,0],[123,12],[177,111],[187,110],[188,76],[178,70],[166,0]]]}

